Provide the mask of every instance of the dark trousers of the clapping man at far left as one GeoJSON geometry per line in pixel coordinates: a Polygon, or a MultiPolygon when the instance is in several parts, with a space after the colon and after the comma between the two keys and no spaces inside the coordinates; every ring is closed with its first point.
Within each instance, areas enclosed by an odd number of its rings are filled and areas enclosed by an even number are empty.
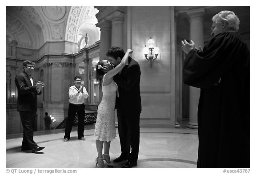
{"type": "Polygon", "coordinates": [[[36,150],[38,147],[33,140],[34,122],[36,119],[36,111],[20,111],[20,119],[23,126],[22,150],[36,150]]]}

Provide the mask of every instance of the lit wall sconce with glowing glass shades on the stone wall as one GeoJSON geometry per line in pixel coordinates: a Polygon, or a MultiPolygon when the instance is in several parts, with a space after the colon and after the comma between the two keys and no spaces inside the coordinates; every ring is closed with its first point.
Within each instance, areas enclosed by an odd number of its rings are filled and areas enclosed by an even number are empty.
{"type": "Polygon", "coordinates": [[[154,40],[150,39],[148,40],[148,47],[145,45],[145,47],[143,48],[143,54],[145,56],[145,58],[147,60],[149,60],[150,62],[150,68],[152,68],[152,63],[154,62],[154,60],[156,60],[156,58],[159,56],[159,48],[156,46],[154,46],[154,40]]]}

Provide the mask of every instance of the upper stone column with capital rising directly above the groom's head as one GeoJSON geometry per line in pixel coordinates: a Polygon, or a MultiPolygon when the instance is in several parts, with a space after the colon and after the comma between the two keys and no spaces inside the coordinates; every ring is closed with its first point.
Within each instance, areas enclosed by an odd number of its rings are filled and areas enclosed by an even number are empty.
{"type": "Polygon", "coordinates": [[[112,39],[111,46],[120,46],[123,48],[124,45],[124,13],[113,12],[109,15],[108,20],[112,22],[112,39]]]}

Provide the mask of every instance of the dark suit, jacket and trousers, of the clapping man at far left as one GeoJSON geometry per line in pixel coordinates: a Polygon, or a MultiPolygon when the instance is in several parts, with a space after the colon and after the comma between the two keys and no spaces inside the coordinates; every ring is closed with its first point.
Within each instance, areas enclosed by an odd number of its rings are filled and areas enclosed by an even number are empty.
{"type": "Polygon", "coordinates": [[[33,125],[36,118],[36,95],[35,81],[32,83],[28,74],[23,71],[16,75],[15,84],[18,89],[17,111],[20,112],[20,119],[23,126],[23,141],[21,150],[36,150],[37,144],[33,140],[33,125]]]}

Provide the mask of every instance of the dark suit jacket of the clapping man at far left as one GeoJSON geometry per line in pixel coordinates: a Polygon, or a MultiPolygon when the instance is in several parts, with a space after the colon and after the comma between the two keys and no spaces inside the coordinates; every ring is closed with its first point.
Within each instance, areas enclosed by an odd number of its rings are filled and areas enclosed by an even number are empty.
{"type": "Polygon", "coordinates": [[[36,111],[36,95],[42,92],[37,93],[35,81],[32,86],[28,74],[23,71],[16,75],[15,84],[18,89],[17,111],[36,111]]]}

